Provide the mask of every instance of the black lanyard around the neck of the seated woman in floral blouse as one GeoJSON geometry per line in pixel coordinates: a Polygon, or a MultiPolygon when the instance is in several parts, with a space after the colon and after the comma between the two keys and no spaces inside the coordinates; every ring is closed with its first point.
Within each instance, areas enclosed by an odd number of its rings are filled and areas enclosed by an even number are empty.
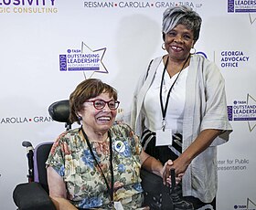
{"type": "Polygon", "coordinates": [[[88,139],[88,136],[86,135],[85,131],[83,131],[82,127],[80,128],[80,130],[82,131],[82,134],[83,134],[83,137],[84,139],[86,140],[87,142],[87,145],[89,147],[89,150],[91,152],[91,156],[93,157],[93,160],[95,161],[95,163],[98,165],[98,167],[100,168],[101,170],[101,174],[104,178],[104,181],[105,181],[105,184],[107,185],[107,188],[108,188],[108,194],[110,195],[111,197],[111,203],[113,202],[113,168],[112,168],[112,137],[111,137],[111,134],[110,134],[110,131],[108,131],[108,136],[110,138],[110,163],[111,163],[111,173],[112,173],[112,180],[111,180],[111,186],[110,184],[108,184],[108,181],[107,181],[107,178],[106,176],[104,175],[104,173],[102,172],[102,169],[101,169],[101,166],[100,164],[98,163],[94,153],[92,152],[92,149],[91,149],[91,143],[89,142],[89,139],[88,139]]]}

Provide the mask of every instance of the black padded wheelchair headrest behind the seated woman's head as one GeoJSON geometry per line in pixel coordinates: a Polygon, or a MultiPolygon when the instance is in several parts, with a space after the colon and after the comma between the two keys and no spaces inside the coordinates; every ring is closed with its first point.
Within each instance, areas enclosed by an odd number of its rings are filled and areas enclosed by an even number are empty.
{"type": "Polygon", "coordinates": [[[59,100],[48,107],[53,121],[69,123],[69,100],[59,100]]]}

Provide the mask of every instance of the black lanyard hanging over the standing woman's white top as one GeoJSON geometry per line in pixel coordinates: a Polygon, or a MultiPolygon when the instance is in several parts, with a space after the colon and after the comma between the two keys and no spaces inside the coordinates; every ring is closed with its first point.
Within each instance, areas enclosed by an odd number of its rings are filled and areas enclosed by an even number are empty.
{"type": "Polygon", "coordinates": [[[163,71],[163,74],[162,74],[162,79],[161,79],[161,86],[160,86],[160,104],[161,104],[161,111],[162,111],[162,116],[163,116],[163,121],[162,121],[162,129],[163,131],[165,131],[165,126],[166,126],[166,121],[165,121],[165,117],[166,117],[166,112],[167,112],[167,107],[168,107],[168,103],[169,103],[169,98],[170,98],[170,93],[171,93],[171,90],[173,89],[175,83],[176,83],[176,80],[178,79],[179,75],[180,75],[180,72],[183,70],[183,68],[185,67],[186,63],[187,63],[187,60],[188,58],[190,57],[190,55],[187,57],[187,59],[185,60],[182,68],[180,69],[180,71],[178,72],[178,75],[174,81],[174,83],[172,84],[171,88],[169,89],[168,91],[168,94],[167,94],[167,98],[166,98],[166,101],[165,101],[165,107],[164,107],[164,101],[163,101],[163,98],[162,98],[162,92],[163,92],[163,84],[164,84],[164,78],[165,78],[165,71],[167,69],[167,66],[168,66],[168,62],[169,62],[169,57],[167,58],[166,60],[166,63],[165,63],[165,68],[164,68],[164,71],[163,71]]]}

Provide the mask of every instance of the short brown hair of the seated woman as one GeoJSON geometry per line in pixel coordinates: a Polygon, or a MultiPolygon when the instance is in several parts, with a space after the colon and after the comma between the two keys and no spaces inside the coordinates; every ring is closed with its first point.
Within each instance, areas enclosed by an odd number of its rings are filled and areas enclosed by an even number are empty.
{"type": "Polygon", "coordinates": [[[101,79],[85,79],[69,96],[69,121],[80,124],[78,112],[83,109],[86,100],[95,98],[101,93],[109,93],[110,97],[117,100],[117,91],[112,86],[103,83],[101,79]]]}

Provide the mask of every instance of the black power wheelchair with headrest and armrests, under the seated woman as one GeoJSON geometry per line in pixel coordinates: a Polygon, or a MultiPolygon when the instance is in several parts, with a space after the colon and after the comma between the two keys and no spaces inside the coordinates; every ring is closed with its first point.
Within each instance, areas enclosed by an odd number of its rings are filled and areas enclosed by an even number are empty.
{"type": "MultiPolygon", "coordinates": [[[[67,131],[71,129],[69,122],[69,100],[59,100],[52,103],[48,107],[48,112],[54,121],[64,122],[67,131]]],[[[37,145],[34,149],[31,142],[22,142],[22,145],[27,148],[28,161],[28,182],[17,184],[13,192],[13,200],[18,207],[17,210],[55,210],[51,199],[48,196],[48,180],[45,163],[48,159],[53,142],[43,142],[37,145]]],[[[172,177],[175,177],[174,170],[171,170],[172,177]]],[[[172,187],[167,188],[162,179],[154,173],[141,171],[142,186],[144,192],[167,192],[160,197],[158,203],[154,199],[149,199],[146,196],[144,205],[150,207],[151,210],[193,210],[193,206],[180,199],[176,193],[176,180],[172,179],[172,187]]]]}

